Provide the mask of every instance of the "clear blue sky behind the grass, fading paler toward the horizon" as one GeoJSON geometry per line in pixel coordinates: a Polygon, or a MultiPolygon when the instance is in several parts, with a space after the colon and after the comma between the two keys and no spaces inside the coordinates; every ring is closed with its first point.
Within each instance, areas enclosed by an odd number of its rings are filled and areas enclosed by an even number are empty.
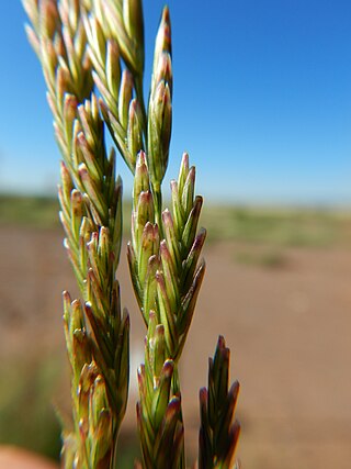
{"type": "MultiPolygon", "coordinates": [[[[149,79],[163,2],[145,0],[149,79]]],[[[197,191],[230,202],[351,204],[350,0],[170,0],[173,134],[197,191]]],[[[20,1],[0,16],[0,191],[55,191],[59,154],[20,1]]],[[[131,176],[120,161],[125,193],[131,176]]]]}

